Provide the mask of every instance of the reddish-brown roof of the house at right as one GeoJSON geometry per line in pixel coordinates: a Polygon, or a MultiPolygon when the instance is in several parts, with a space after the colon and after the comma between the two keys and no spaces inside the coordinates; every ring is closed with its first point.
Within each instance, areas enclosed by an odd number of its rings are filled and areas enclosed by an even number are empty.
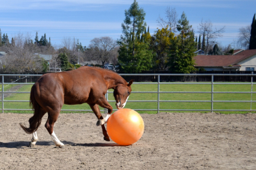
{"type": "Polygon", "coordinates": [[[230,55],[220,55],[220,56],[204,56],[198,55],[195,56],[195,67],[228,67],[229,65],[237,65],[239,61],[242,61],[246,58],[256,54],[255,50],[241,50],[238,54],[230,55]]]}

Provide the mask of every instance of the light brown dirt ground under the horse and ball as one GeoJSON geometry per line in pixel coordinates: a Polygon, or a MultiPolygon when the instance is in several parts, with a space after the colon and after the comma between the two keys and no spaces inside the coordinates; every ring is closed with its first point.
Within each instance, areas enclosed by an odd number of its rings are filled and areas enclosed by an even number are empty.
{"type": "Polygon", "coordinates": [[[35,148],[19,123],[32,114],[0,114],[0,169],[256,169],[256,114],[141,114],[133,145],[105,142],[94,114],[60,114],[54,147],[43,117],[35,148]]]}

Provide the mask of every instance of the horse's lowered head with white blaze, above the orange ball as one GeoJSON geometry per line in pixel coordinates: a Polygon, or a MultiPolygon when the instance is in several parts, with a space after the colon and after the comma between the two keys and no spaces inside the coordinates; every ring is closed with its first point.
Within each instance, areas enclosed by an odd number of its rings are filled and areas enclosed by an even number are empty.
{"type": "Polygon", "coordinates": [[[115,101],[117,102],[115,103],[117,109],[122,109],[126,105],[126,101],[132,92],[132,82],[134,82],[134,80],[131,80],[127,85],[119,84],[115,87],[114,97],[115,101]]]}

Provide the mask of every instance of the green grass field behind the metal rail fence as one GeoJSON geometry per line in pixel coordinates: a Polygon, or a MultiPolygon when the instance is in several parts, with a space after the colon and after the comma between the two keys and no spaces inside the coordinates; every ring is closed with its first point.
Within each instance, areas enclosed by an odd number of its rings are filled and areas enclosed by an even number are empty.
{"type": "MultiPolygon", "coordinates": [[[[14,86],[14,85],[13,85],[14,86]]],[[[29,92],[32,85],[23,85],[17,91],[19,92],[29,92]]],[[[9,85],[5,87],[5,91],[11,90],[12,86],[9,85]]],[[[157,84],[134,84],[132,85],[133,91],[157,91],[157,84]]],[[[113,91],[113,90],[110,90],[113,91]]],[[[160,91],[172,91],[172,92],[211,92],[211,85],[198,85],[198,84],[163,84],[160,85],[160,91]]],[[[214,85],[215,92],[250,92],[251,85],[214,85]]],[[[253,91],[256,91],[253,89],[253,91]]],[[[214,100],[242,100],[250,101],[251,94],[214,94],[214,100]]],[[[6,97],[5,100],[29,100],[29,94],[11,94],[6,97]]],[[[109,94],[108,100],[114,100],[113,93],[109,94]]],[[[132,93],[129,100],[157,100],[157,94],[148,94],[148,93],[132,93]]],[[[129,101],[128,100],[128,101],[129,101]]],[[[211,94],[195,94],[195,93],[163,93],[160,94],[160,100],[211,100],[211,94]]],[[[256,95],[253,94],[252,100],[256,100],[256,95]]],[[[110,102],[112,107],[116,109],[115,102],[110,102]]],[[[214,109],[250,109],[251,103],[246,102],[215,102],[214,109]]],[[[0,106],[2,109],[2,105],[0,106]]],[[[30,109],[29,102],[5,102],[5,109],[30,109]]],[[[157,109],[157,102],[128,102],[126,108],[130,109],[157,109]]],[[[82,105],[64,105],[62,109],[78,109],[86,110],[90,109],[89,105],[86,103],[82,105]]],[[[102,109],[102,108],[101,108],[102,109]]],[[[210,102],[161,102],[160,109],[211,109],[210,102]]],[[[252,103],[252,109],[256,109],[256,103],[252,103]]],[[[5,111],[5,112],[32,112],[32,111],[5,111]]],[[[74,112],[74,111],[73,111],[74,112]]],[[[156,111],[138,111],[138,112],[147,112],[147,113],[156,113],[156,111]]],[[[176,111],[172,111],[176,112],[176,111]]],[[[182,111],[184,112],[184,111],[182,111]]],[[[191,112],[191,111],[189,111],[191,112]]],[[[222,113],[233,113],[220,111],[222,113]]],[[[239,112],[241,113],[241,112],[239,112]]]]}

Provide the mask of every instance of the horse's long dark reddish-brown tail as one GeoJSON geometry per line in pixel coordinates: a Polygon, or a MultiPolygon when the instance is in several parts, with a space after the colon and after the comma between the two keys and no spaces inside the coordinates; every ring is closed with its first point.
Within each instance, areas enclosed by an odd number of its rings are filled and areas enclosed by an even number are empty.
{"type": "Polygon", "coordinates": [[[21,128],[28,134],[36,132],[38,130],[38,127],[41,124],[41,118],[43,118],[43,115],[45,112],[42,111],[41,106],[38,104],[35,98],[35,91],[36,91],[36,85],[33,85],[30,92],[30,101],[29,105],[34,111],[34,115],[29,119],[29,127],[25,127],[25,125],[22,125],[22,123],[19,123],[21,128]]]}

